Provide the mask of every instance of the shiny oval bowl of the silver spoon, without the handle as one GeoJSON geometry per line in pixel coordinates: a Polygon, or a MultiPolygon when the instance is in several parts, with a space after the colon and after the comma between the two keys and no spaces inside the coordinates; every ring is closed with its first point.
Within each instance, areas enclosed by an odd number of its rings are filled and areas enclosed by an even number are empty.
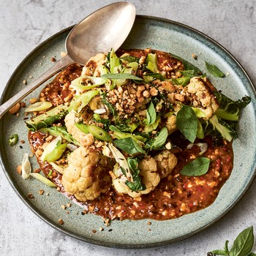
{"type": "Polygon", "coordinates": [[[91,56],[117,50],[135,21],[135,7],[127,2],[110,4],[78,23],[66,39],[69,57],[86,64],[91,56]]]}

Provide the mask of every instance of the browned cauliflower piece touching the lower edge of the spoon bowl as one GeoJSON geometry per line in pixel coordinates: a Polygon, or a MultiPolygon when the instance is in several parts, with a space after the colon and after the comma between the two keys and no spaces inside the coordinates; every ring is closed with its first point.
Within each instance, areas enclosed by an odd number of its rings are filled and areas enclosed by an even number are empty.
{"type": "Polygon", "coordinates": [[[104,53],[98,53],[91,57],[86,65],[83,67],[81,75],[89,75],[99,77],[101,74],[101,66],[105,64],[107,56],[104,53]]]}

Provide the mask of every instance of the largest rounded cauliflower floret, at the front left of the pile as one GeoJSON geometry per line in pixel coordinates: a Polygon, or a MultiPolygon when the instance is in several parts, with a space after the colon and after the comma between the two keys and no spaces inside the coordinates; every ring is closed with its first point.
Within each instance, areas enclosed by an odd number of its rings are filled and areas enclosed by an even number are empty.
{"type": "Polygon", "coordinates": [[[81,146],[69,155],[61,183],[81,202],[94,200],[111,187],[108,158],[81,146]]]}

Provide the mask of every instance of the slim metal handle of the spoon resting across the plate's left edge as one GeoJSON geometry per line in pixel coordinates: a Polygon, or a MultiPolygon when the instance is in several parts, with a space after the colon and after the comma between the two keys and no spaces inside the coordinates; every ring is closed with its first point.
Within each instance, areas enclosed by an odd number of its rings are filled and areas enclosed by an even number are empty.
{"type": "Polygon", "coordinates": [[[0,106],[0,119],[2,118],[2,116],[4,116],[4,113],[10,110],[10,108],[12,108],[12,106],[18,103],[21,99],[30,94],[31,91],[37,89],[38,86],[40,86],[42,83],[45,83],[45,81],[49,78],[52,78],[53,75],[56,75],[61,69],[69,66],[69,64],[72,64],[74,62],[75,61],[73,61],[68,55],[60,59],[59,61],[56,61],[54,66],[48,69],[48,71],[46,71],[39,78],[37,78],[37,80],[34,80],[33,83],[31,83],[29,86],[26,86],[23,90],[18,92],[18,94],[15,94],[15,96],[8,99],[7,102],[4,102],[4,104],[0,106]]]}

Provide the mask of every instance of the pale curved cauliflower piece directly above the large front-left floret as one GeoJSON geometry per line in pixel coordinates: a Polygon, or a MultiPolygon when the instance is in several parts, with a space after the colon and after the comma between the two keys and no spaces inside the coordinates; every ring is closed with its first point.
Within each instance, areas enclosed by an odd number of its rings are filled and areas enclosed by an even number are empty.
{"type": "Polygon", "coordinates": [[[91,135],[91,133],[86,134],[80,131],[78,127],[75,127],[75,124],[78,123],[78,121],[79,118],[75,116],[75,113],[68,113],[65,117],[67,132],[69,132],[75,140],[78,140],[81,146],[91,146],[94,143],[94,135],[91,135]]]}

